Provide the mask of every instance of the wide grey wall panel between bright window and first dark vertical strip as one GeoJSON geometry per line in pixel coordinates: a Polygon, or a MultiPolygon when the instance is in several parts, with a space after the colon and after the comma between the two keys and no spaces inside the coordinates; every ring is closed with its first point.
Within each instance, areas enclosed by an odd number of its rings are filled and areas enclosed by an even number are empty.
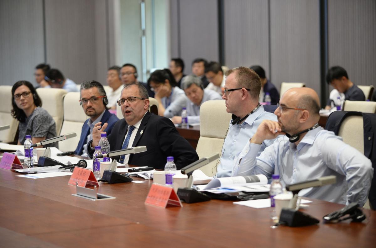
{"type": "MultiPolygon", "coordinates": [[[[180,0],[180,37],[180,55],[186,74],[191,73],[195,58],[218,61],[217,0],[180,0]]],[[[171,43],[176,39],[171,35],[171,43]]]]}

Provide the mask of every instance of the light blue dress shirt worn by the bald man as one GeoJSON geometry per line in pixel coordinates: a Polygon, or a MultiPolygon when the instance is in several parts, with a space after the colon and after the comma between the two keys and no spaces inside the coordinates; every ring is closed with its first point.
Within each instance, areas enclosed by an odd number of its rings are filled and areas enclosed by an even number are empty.
{"type": "Polygon", "coordinates": [[[282,186],[335,175],[337,183],[300,190],[299,195],[341,204],[364,205],[373,177],[371,161],[334,132],[321,127],[306,133],[297,146],[278,138],[261,155],[261,145],[250,144],[235,159],[233,175],[279,174],[282,186]],[[240,163],[239,163],[240,161],[240,163]]]}

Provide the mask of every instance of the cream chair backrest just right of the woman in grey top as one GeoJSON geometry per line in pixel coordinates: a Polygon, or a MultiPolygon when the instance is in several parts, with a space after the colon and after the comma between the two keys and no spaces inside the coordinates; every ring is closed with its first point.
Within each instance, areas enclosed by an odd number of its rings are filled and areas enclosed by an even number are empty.
{"type": "Polygon", "coordinates": [[[42,108],[55,120],[56,135],[60,135],[64,118],[63,99],[67,91],[55,88],[38,88],[36,92],[42,99],[42,108]]]}

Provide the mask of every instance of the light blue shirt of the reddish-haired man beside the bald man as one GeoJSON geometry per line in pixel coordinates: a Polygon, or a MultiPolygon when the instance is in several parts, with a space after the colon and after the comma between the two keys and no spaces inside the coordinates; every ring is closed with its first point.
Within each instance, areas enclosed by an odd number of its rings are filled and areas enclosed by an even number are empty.
{"type": "MultiPolygon", "coordinates": [[[[253,114],[250,114],[243,123],[231,125],[230,122],[230,127],[222,147],[220,164],[217,166],[217,177],[231,176],[235,156],[243,149],[244,144],[249,143],[249,139],[255,134],[263,120],[276,121],[277,116],[264,111],[264,106],[261,105],[253,114]]],[[[274,140],[265,140],[262,142],[259,153],[264,151],[265,147],[272,145],[273,141],[274,140]]]]}

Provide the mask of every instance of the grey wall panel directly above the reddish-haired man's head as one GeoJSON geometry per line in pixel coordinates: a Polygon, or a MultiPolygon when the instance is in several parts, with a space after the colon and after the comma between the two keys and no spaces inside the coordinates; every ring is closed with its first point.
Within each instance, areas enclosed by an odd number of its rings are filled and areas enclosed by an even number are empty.
{"type": "Polygon", "coordinates": [[[225,64],[261,65],[269,71],[268,1],[224,1],[225,64]]]}

